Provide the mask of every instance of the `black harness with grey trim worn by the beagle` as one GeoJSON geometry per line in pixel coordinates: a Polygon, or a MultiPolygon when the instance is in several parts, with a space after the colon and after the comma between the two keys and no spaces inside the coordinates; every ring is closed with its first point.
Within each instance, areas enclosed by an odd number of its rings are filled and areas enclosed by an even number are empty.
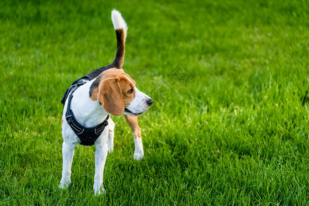
{"type": "Polygon", "coordinates": [[[78,121],[73,115],[73,111],[71,111],[71,100],[73,98],[73,93],[78,89],[78,87],[82,86],[83,84],[86,84],[89,82],[89,78],[87,76],[84,76],[82,78],[79,78],[78,80],[75,80],[71,87],[65,91],[65,94],[62,97],[61,103],[65,105],[65,100],[69,97],[69,102],[67,102],[67,111],[65,113],[65,119],[67,119],[67,124],[71,126],[71,129],[74,133],[80,138],[80,144],[85,146],[91,146],[94,144],[95,140],[97,140],[100,135],[102,134],[104,128],[108,125],[108,118],[109,114],[107,115],[104,122],[98,124],[95,127],[84,127],[78,121]]]}

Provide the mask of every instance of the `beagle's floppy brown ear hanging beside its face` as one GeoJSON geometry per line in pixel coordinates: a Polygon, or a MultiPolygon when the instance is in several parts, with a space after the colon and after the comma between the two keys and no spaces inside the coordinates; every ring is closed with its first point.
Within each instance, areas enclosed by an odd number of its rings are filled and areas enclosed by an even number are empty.
{"type": "Polygon", "coordinates": [[[108,78],[103,80],[99,87],[98,100],[103,104],[106,112],[119,116],[124,113],[124,100],[119,79],[108,78]]]}

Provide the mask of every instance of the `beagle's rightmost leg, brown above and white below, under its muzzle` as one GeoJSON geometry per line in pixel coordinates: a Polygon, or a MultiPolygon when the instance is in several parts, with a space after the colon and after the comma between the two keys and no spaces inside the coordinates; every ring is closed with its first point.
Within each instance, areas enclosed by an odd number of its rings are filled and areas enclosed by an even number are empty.
{"type": "Polygon", "coordinates": [[[134,137],[135,150],[133,159],[141,160],[144,157],[143,143],[141,142],[141,128],[139,128],[138,117],[124,115],[126,122],[128,122],[134,137]]]}

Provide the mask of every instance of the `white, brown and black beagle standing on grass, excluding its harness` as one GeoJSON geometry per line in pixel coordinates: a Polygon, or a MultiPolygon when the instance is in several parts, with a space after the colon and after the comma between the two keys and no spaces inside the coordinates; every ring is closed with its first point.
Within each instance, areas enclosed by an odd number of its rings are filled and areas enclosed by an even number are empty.
{"type": "MultiPolygon", "coordinates": [[[[71,111],[79,125],[94,128],[106,122],[93,144],[95,145],[95,176],[93,190],[96,195],[104,192],[103,171],[108,152],[113,151],[115,124],[109,114],[124,115],[135,141],[133,158],[144,157],[141,142],[141,129],[137,116],[144,113],[152,104],[152,99],[139,91],[136,82],[122,69],[124,63],[127,26],[122,15],[113,10],[111,19],[117,36],[117,52],[115,60],[106,67],[100,67],[87,75],[89,81],[83,82],[75,90],[69,91],[70,98],[65,100],[62,114],[62,179],[60,188],[66,188],[71,183],[71,164],[74,148],[81,143],[80,136],[67,120],[67,111],[71,111]],[[69,106],[69,107],[68,107],[69,106]],[[69,108],[69,109],[68,109],[69,108]],[[108,123],[108,124],[107,124],[108,123]]],[[[96,133],[96,131],[95,131],[96,133]]],[[[91,138],[91,137],[90,137],[91,138]]],[[[89,144],[88,144],[89,145],[89,144]]]]}

